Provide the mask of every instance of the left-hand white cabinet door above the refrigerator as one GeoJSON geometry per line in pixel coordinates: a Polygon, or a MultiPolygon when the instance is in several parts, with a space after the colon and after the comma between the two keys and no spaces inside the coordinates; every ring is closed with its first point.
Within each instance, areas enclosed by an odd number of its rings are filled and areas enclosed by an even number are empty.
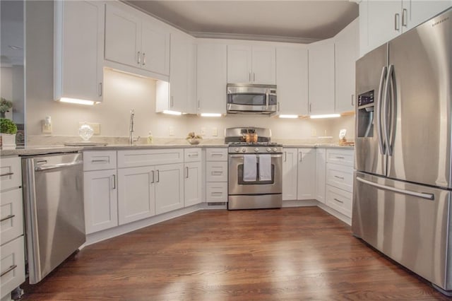
{"type": "Polygon", "coordinates": [[[400,35],[402,1],[367,1],[369,50],[400,35]]]}

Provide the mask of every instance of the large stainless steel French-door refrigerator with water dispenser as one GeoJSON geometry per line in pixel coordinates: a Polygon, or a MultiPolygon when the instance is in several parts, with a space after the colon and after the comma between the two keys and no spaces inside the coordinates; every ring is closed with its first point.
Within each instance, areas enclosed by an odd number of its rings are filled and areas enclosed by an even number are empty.
{"type": "Polygon", "coordinates": [[[352,232],[452,293],[452,10],[356,70],[352,232]]]}

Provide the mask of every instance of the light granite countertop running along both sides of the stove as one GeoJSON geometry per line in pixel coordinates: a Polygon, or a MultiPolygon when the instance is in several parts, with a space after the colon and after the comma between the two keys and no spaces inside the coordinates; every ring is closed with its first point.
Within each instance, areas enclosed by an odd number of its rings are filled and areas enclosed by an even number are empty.
{"type": "MultiPolygon", "coordinates": [[[[354,146],[339,146],[334,144],[283,144],[285,148],[340,148],[354,149],[354,146]]],[[[226,148],[226,144],[111,144],[107,146],[28,146],[11,150],[1,150],[0,156],[14,155],[45,155],[49,153],[71,153],[76,151],[123,151],[123,150],[145,150],[155,148],[226,148]]]]}

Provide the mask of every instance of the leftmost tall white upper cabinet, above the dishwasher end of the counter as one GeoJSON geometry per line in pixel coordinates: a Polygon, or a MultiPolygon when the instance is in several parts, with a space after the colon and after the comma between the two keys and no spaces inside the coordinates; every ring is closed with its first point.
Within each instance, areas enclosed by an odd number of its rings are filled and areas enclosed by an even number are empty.
{"type": "Polygon", "coordinates": [[[102,101],[104,6],[55,1],[54,98],[102,101]]]}

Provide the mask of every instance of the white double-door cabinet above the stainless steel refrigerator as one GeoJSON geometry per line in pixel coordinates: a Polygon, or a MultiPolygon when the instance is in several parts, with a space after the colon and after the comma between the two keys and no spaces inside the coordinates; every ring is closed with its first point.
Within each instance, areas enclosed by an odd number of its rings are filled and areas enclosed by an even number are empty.
{"type": "Polygon", "coordinates": [[[359,54],[361,56],[366,54],[451,6],[452,0],[361,1],[359,54]]]}

